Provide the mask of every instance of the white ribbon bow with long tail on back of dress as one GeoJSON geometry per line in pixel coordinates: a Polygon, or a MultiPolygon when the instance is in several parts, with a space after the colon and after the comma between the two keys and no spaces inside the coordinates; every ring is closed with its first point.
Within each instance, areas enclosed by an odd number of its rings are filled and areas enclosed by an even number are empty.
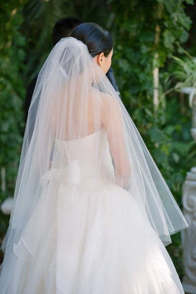
{"type": "MultiPolygon", "coordinates": [[[[80,222],[81,203],[77,185],[81,178],[78,161],[75,159],[61,169],[51,169],[41,178],[45,187],[49,181],[58,181],[57,193],[57,252],[56,252],[56,287],[58,293],[73,292],[77,277],[81,247],[80,222]]],[[[54,195],[55,196],[55,195],[54,195]]]]}

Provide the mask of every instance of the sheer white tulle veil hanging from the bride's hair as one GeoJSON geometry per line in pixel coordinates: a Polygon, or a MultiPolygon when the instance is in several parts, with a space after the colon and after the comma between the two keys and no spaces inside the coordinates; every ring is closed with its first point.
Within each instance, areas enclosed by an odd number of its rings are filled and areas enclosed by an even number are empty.
{"type": "MultiPolygon", "coordinates": [[[[171,242],[171,234],[187,227],[121,99],[87,46],[70,37],[56,44],[38,75],[25,129],[14,208],[2,245],[7,256],[20,242],[40,195],[46,190],[50,195],[49,181],[65,180],[67,185],[82,181],[77,160],[68,158],[69,165],[65,166],[55,142],[65,142],[66,150],[66,142],[91,136],[100,129],[107,136],[114,165],[111,181],[135,198],[164,244],[171,242]]],[[[96,138],[94,169],[99,175],[103,152],[100,137],[96,138]]],[[[45,201],[47,205],[50,199],[46,196],[45,201]]],[[[40,215],[44,214],[43,207],[40,215]]],[[[31,237],[26,244],[32,242],[31,237]]]]}

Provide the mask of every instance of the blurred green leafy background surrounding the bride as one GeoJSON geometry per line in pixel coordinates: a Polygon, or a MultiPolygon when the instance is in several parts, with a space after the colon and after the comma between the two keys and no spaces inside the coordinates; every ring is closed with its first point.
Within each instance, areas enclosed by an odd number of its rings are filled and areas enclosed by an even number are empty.
{"type": "MultiPolygon", "coordinates": [[[[175,71],[178,45],[195,54],[196,5],[193,0],[10,0],[0,3],[0,202],[13,196],[25,128],[24,102],[29,82],[52,48],[56,21],[77,16],[111,31],[113,69],[123,103],[181,207],[186,172],[196,165],[190,135],[188,99],[172,92],[165,80],[175,71]],[[153,101],[153,70],[159,70],[158,101],[153,101]],[[166,86],[165,86],[166,85],[166,86]]],[[[176,80],[173,80],[174,84],[176,80]]],[[[0,241],[9,217],[0,212],[0,241]]],[[[180,233],[167,249],[183,274],[180,233]]]]}

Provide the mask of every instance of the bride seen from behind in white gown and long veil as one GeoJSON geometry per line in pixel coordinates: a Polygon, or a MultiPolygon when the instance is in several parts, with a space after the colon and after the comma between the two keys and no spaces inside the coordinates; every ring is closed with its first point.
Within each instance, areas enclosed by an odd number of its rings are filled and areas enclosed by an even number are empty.
{"type": "Polygon", "coordinates": [[[188,226],[105,73],[94,23],[39,73],[2,244],[1,294],[182,294],[164,245],[188,226]]]}

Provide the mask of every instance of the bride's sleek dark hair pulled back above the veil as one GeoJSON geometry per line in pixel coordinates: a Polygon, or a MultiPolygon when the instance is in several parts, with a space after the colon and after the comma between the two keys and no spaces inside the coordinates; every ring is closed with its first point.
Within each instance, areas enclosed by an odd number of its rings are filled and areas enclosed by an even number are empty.
{"type": "Polygon", "coordinates": [[[71,37],[86,44],[92,57],[101,52],[107,57],[114,44],[110,32],[95,23],[77,25],[73,29],[71,37]]]}

